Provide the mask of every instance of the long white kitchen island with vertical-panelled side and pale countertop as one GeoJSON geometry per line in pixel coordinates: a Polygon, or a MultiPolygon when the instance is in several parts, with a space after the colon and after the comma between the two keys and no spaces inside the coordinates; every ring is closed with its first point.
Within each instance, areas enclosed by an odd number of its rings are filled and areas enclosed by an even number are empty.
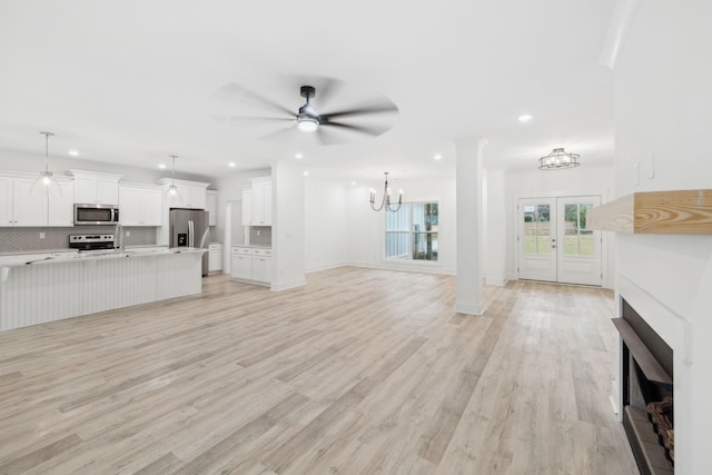
{"type": "Polygon", "coordinates": [[[202,291],[198,248],[0,257],[0,330],[202,291]]]}

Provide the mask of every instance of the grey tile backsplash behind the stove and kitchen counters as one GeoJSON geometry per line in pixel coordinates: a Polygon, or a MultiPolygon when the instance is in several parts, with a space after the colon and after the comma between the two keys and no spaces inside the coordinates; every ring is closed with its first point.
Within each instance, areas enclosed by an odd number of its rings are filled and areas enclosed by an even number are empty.
{"type": "MultiPolygon", "coordinates": [[[[130,232],[123,240],[126,246],[150,246],[156,244],[156,228],[125,227],[130,232]]],[[[0,254],[38,251],[69,248],[69,235],[96,232],[113,234],[113,226],[75,226],[71,228],[0,228],[0,254]],[[44,238],[40,238],[40,232],[44,238]]]]}

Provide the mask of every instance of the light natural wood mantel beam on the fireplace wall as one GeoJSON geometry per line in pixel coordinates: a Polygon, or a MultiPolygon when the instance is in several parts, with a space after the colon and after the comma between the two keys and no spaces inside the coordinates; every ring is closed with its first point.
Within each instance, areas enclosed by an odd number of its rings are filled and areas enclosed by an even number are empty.
{"type": "Polygon", "coordinates": [[[644,191],[597,206],[590,229],[634,234],[712,234],[712,189],[644,191]]]}

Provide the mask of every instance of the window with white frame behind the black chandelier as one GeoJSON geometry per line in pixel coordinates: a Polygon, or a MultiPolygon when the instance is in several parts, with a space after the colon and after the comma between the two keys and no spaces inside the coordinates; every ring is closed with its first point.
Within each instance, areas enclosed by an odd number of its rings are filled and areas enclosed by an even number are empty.
{"type": "Polygon", "coordinates": [[[386,259],[437,260],[437,202],[404,202],[386,212],[386,259]]]}

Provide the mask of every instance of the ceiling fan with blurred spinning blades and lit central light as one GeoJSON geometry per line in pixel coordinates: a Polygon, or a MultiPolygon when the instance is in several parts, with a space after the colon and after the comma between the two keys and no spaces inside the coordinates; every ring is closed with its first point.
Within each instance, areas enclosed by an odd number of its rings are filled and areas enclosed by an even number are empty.
{"type": "MultiPolygon", "coordinates": [[[[319,100],[326,102],[330,96],[334,96],[334,89],[338,86],[336,80],[326,80],[319,87],[319,100]]],[[[332,112],[319,113],[314,102],[317,98],[317,88],[309,85],[300,86],[299,96],[306,99],[306,102],[298,109],[290,109],[276,101],[265,98],[254,91],[241,88],[237,85],[228,85],[219,90],[219,96],[229,96],[238,101],[249,101],[263,107],[273,109],[278,116],[271,117],[240,117],[240,116],[215,116],[216,120],[221,121],[225,126],[234,123],[244,123],[245,121],[263,121],[263,120],[283,120],[289,121],[288,127],[280,128],[274,133],[268,135],[267,139],[280,138],[286,133],[293,133],[298,130],[304,133],[314,133],[324,145],[338,144],[345,141],[343,135],[333,133],[335,130],[346,132],[359,132],[367,136],[377,137],[386,132],[393,127],[393,120],[386,115],[396,115],[398,108],[390,100],[380,97],[374,100],[362,102],[357,106],[335,110],[332,112]],[[314,99],[314,102],[313,102],[314,99]],[[375,116],[383,116],[377,118],[375,116]],[[384,118],[386,121],[384,121],[384,118]],[[373,123],[364,123],[364,121],[373,123]]],[[[390,116],[390,117],[392,117],[390,116]]],[[[301,135],[301,133],[299,133],[301,135]]]]}

